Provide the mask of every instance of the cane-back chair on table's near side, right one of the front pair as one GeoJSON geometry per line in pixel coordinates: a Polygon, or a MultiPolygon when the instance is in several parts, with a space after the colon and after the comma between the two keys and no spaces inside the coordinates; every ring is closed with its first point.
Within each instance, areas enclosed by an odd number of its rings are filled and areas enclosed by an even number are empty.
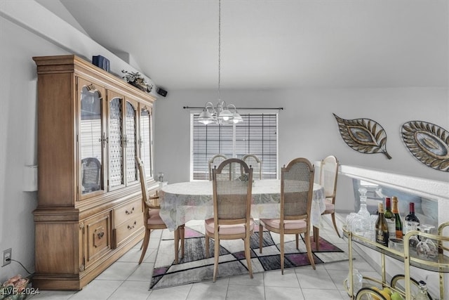
{"type": "MultiPolygon", "coordinates": [[[[279,219],[260,219],[259,233],[263,228],[279,233],[281,247],[281,273],[284,267],[284,235],[294,234],[296,249],[301,233],[310,264],[315,270],[315,261],[311,253],[310,211],[314,190],[314,167],[308,159],[298,157],[281,169],[281,216],[279,219]]],[[[262,234],[259,235],[259,251],[262,253],[262,234]]]]}

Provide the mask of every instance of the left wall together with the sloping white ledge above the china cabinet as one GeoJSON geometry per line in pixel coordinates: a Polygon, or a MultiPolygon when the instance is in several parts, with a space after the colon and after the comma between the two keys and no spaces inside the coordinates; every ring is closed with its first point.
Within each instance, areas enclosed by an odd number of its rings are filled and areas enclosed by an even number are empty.
{"type": "MultiPolygon", "coordinates": [[[[33,56],[102,55],[111,72],[138,71],[35,1],[0,1],[0,253],[34,271],[34,219],[37,192],[24,192],[22,171],[37,164],[36,65],[33,56]]],[[[155,90],[155,89],[154,89],[155,90]]],[[[58,141],[55,141],[58,143],[58,141]]],[[[12,261],[0,267],[0,282],[28,275],[12,261]]]]}

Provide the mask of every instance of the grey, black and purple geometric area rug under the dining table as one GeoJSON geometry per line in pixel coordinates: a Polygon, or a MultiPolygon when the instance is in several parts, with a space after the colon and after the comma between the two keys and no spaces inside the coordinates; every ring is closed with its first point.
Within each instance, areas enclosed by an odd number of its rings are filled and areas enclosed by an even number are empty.
{"type": "MultiPolygon", "coordinates": [[[[156,254],[152,281],[149,289],[161,289],[175,285],[186,285],[193,282],[213,280],[214,240],[210,239],[210,256],[206,259],[203,228],[185,227],[185,254],[178,264],[174,264],[173,232],[163,230],[159,250],[156,254]],[[202,232],[201,232],[202,231],[202,232]]],[[[251,236],[251,266],[253,273],[281,268],[279,235],[263,232],[262,254],[259,253],[259,232],[251,236]]],[[[295,235],[286,235],[284,268],[295,268],[309,265],[304,241],[299,243],[299,251],[295,249],[295,235]],[[290,240],[287,240],[287,239],[290,240]],[[288,242],[287,242],[288,241],[288,242]]],[[[304,238],[304,237],[302,237],[304,238]]],[[[344,261],[348,255],[342,249],[320,237],[319,252],[315,251],[315,242],[311,237],[315,264],[344,261]]],[[[249,274],[245,259],[243,240],[222,240],[220,242],[220,260],[217,279],[236,275],[249,274]]]]}

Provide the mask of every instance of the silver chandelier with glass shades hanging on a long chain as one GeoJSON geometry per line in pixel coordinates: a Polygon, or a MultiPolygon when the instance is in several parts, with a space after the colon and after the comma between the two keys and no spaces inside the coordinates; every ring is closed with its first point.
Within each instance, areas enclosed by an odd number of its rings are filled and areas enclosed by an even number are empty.
{"type": "Polygon", "coordinates": [[[241,115],[237,112],[236,105],[227,105],[220,99],[220,79],[221,79],[221,0],[218,0],[218,103],[214,107],[213,103],[208,102],[204,105],[203,112],[198,117],[198,121],[203,124],[232,124],[243,122],[241,115]]]}

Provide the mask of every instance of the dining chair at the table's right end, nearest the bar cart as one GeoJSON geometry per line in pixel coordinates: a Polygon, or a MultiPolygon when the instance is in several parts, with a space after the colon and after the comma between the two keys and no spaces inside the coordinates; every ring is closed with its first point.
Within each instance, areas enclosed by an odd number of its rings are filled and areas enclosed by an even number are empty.
{"type": "MultiPolygon", "coordinates": [[[[321,160],[319,184],[324,188],[324,195],[326,197],[326,210],[321,215],[330,214],[335,232],[338,237],[337,223],[335,221],[335,193],[337,192],[337,176],[338,176],[339,162],[337,157],[329,155],[321,160]]],[[[319,250],[320,229],[314,226],[314,240],[316,250],[319,250]]]]}

